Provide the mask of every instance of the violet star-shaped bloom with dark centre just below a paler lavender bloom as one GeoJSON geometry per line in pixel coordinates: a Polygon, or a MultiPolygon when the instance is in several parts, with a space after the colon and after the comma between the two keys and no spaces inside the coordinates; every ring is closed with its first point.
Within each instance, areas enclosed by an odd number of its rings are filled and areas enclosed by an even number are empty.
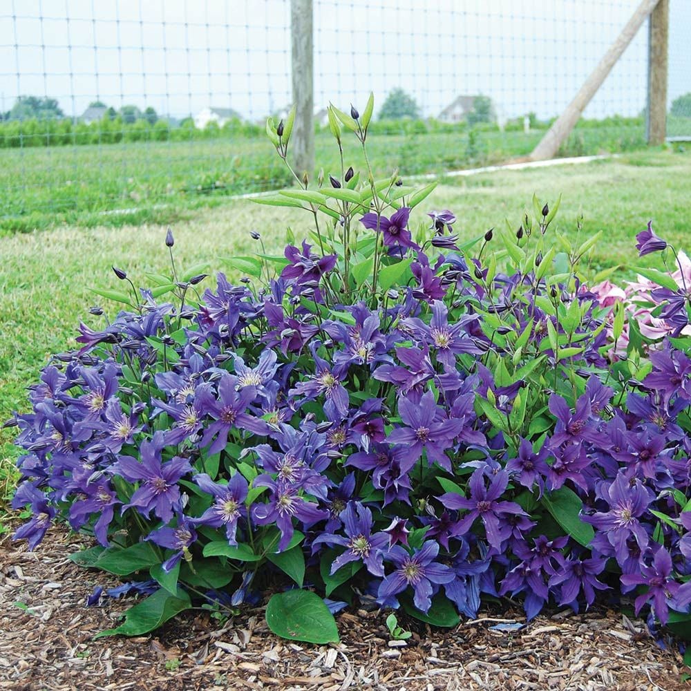
{"type": "Polygon", "coordinates": [[[227,446],[231,429],[247,430],[256,435],[269,433],[269,426],[263,420],[247,414],[249,404],[256,398],[254,386],[245,386],[238,391],[238,377],[229,375],[224,370],[218,382],[218,400],[206,385],[199,389],[200,410],[216,420],[209,425],[202,437],[202,446],[216,437],[209,446],[209,454],[218,453],[227,446]]]}

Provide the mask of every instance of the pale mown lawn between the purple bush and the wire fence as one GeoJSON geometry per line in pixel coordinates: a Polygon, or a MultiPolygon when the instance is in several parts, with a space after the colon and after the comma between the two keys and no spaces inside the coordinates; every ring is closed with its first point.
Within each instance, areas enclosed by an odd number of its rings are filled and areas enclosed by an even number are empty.
{"type": "MultiPolygon", "coordinates": [[[[426,218],[428,209],[452,209],[458,217],[455,228],[464,237],[503,224],[505,218],[518,227],[533,192],[550,202],[563,194],[554,226],[558,231],[573,236],[581,212],[584,235],[605,231],[595,251],[597,267],[634,263],[634,235],[650,219],[661,236],[677,247],[688,246],[691,153],[681,147],[589,164],[446,178],[417,218],[426,218]]],[[[307,214],[301,214],[247,200],[189,211],[174,227],[177,261],[209,261],[211,269],[223,269],[223,257],[256,252],[249,237],[253,229],[261,232],[269,252],[280,252],[287,225],[298,238],[309,227],[307,214]]],[[[164,226],[150,223],[117,229],[59,225],[0,236],[0,420],[13,409],[26,409],[24,388],[36,381],[51,353],[74,345],[80,319],[98,325],[88,308],[105,301],[88,289],[116,287],[111,265],[126,269],[135,283],[144,282],[144,272],[167,269],[164,235],[164,226]]],[[[115,311],[112,304],[104,306],[115,311]]],[[[12,430],[2,435],[0,459],[12,455],[12,430]]]]}

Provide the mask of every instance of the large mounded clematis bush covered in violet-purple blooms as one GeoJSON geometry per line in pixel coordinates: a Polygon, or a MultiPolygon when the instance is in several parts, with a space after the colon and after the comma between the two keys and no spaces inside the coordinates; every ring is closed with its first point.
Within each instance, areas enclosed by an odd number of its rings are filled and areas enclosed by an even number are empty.
{"type": "Polygon", "coordinates": [[[179,259],[149,289],[115,269],[124,290],[99,292],[122,311],[80,325],[10,421],[14,505],[32,513],[15,537],[34,548],[54,522],[93,534],[77,564],[147,596],[105,634],[269,593],[269,626],[303,641],[337,640],[331,613],[356,602],[453,626],[502,598],[527,618],[606,598],[683,633],[679,257],[650,228],[638,238],[671,265],[647,274],[674,325],[651,350],[621,301],[588,287],[598,237],[560,235],[558,200],[461,242],[451,211],[419,211],[434,184],[346,167],[348,142],[367,161],[372,108],[329,108],[343,165],[316,182],[287,163],[293,115],[267,122],[297,184],[257,201],[303,209],[314,231],[283,256],[254,233],[256,253],[229,263],[237,285],[218,274],[200,292],[205,267],[179,259]]]}

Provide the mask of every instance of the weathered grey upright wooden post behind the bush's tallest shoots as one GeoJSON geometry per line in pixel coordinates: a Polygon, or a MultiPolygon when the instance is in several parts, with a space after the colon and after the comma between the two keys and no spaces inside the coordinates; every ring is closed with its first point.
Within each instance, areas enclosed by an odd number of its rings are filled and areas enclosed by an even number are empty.
{"type": "Polygon", "coordinates": [[[290,138],[295,172],[314,173],[314,50],[312,0],[290,0],[295,123],[290,138]]]}

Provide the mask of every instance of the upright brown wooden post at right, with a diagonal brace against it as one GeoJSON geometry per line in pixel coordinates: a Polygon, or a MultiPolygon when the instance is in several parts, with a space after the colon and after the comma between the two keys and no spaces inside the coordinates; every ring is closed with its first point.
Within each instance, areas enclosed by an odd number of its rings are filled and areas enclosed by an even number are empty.
{"type": "Polygon", "coordinates": [[[670,0],[660,0],[650,15],[648,42],[648,144],[664,144],[667,134],[667,41],[670,0]]]}

